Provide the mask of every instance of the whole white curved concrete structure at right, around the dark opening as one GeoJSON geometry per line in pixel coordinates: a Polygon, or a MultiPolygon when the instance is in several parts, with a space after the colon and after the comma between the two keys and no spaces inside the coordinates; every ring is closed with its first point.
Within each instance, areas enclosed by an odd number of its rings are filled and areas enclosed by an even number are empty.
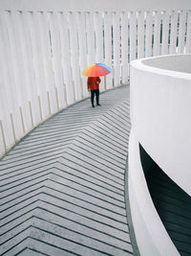
{"type": "Polygon", "coordinates": [[[190,64],[191,55],[131,62],[129,197],[140,255],[180,255],[150,197],[138,143],[166,175],[191,195],[190,64]]]}

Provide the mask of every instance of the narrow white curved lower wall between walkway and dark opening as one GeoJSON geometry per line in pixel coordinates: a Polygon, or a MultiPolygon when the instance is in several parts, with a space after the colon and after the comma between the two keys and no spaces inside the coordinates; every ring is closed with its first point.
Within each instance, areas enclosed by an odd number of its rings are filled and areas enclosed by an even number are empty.
{"type": "Polygon", "coordinates": [[[180,255],[160,221],[148,191],[134,129],[131,130],[129,140],[128,182],[131,216],[140,255],[180,255]]]}

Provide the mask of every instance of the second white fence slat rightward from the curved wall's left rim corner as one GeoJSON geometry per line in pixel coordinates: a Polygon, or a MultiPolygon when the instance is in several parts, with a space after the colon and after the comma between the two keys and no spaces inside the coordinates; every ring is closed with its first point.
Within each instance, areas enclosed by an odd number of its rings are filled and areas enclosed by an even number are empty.
{"type": "Polygon", "coordinates": [[[138,58],[144,57],[144,12],[138,12],[138,58]]]}

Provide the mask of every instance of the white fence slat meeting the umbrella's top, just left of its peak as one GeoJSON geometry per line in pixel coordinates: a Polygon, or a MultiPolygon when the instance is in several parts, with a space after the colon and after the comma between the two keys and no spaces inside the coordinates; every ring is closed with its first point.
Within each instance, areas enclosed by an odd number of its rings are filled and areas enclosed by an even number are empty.
{"type": "Polygon", "coordinates": [[[88,65],[95,63],[95,26],[94,13],[86,12],[86,31],[87,31],[87,48],[88,48],[88,65]]]}

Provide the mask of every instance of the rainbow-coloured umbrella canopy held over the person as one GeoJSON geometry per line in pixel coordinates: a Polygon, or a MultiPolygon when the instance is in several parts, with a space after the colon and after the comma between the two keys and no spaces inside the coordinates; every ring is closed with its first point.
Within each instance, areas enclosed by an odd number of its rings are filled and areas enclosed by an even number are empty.
{"type": "Polygon", "coordinates": [[[102,77],[112,72],[112,69],[105,64],[96,63],[86,67],[82,71],[85,77],[102,77]]]}

